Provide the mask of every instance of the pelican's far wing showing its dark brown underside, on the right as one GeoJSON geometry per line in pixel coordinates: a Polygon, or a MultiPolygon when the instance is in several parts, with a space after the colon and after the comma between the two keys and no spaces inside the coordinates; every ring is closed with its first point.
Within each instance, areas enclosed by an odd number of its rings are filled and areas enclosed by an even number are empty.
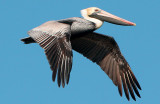
{"type": "Polygon", "coordinates": [[[128,89],[134,100],[136,98],[133,89],[137,96],[140,97],[137,87],[139,89],[141,87],[112,37],[95,32],[87,33],[83,34],[82,37],[72,38],[71,44],[75,51],[96,62],[103,69],[113,83],[118,86],[121,96],[123,82],[123,88],[128,100],[128,89]]]}

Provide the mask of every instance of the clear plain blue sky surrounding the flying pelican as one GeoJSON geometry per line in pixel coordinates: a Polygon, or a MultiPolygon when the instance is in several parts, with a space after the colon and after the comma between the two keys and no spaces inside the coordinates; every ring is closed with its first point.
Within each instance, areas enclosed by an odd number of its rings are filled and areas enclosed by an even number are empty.
{"type": "Polygon", "coordinates": [[[0,0],[0,104],[160,104],[159,0],[0,0]],[[105,23],[97,32],[113,36],[139,80],[141,99],[127,101],[100,69],[74,52],[70,83],[52,82],[43,49],[25,45],[27,31],[49,20],[81,17],[99,7],[135,27],[105,23]]]}

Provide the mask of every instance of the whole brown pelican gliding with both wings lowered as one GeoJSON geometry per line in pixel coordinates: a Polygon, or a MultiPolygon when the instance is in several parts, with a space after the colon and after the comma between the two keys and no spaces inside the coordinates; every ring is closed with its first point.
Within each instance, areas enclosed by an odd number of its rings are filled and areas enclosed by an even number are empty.
{"type": "Polygon", "coordinates": [[[141,87],[129,64],[120,52],[116,41],[106,35],[93,32],[104,21],[117,25],[135,26],[129,22],[96,7],[81,10],[83,18],[73,17],[58,21],[48,21],[28,32],[28,38],[21,39],[25,44],[38,43],[47,56],[53,71],[52,79],[57,75],[58,86],[68,84],[72,68],[72,49],[98,64],[118,86],[122,96],[122,84],[129,100],[136,100],[141,87]],[[129,91],[129,92],[128,92],[129,91]],[[133,92],[134,91],[134,92],[133,92]]]}

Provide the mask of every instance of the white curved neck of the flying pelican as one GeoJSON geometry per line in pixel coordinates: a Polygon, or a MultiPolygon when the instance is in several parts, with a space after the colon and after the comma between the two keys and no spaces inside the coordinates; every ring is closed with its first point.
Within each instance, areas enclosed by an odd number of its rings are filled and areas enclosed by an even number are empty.
{"type": "Polygon", "coordinates": [[[89,20],[89,21],[95,23],[95,24],[96,24],[96,29],[100,28],[100,27],[103,25],[103,21],[101,21],[101,20],[99,20],[99,19],[96,19],[96,18],[89,17],[89,16],[87,15],[87,12],[86,12],[86,11],[83,11],[83,10],[82,10],[82,11],[81,11],[81,14],[82,14],[82,16],[84,17],[84,19],[89,20]]]}

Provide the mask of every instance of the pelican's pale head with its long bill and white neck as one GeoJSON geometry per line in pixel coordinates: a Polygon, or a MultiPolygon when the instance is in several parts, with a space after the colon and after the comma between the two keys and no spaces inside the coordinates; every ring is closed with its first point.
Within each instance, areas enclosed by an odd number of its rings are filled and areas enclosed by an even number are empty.
{"type": "Polygon", "coordinates": [[[113,24],[117,24],[117,25],[123,25],[123,26],[135,26],[136,25],[133,22],[130,22],[120,17],[117,17],[115,15],[112,15],[97,7],[90,7],[87,9],[83,9],[81,10],[81,14],[85,19],[94,22],[97,28],[101,27],[104,21],[113,23],[113,24]]]}

